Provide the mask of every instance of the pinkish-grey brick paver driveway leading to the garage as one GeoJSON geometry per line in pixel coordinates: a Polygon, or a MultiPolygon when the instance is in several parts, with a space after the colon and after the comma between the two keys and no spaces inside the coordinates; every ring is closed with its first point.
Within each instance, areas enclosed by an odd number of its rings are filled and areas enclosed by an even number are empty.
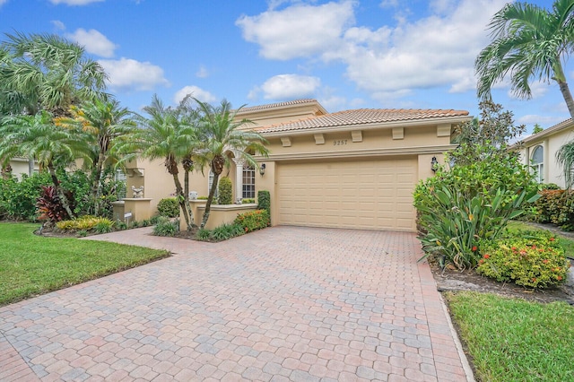
{"type": "Polygon", "coordinates": [[[466,379],[413,234],[147,232],[97,238],[174,256],[0,308],[0,380],[466,379]]]}

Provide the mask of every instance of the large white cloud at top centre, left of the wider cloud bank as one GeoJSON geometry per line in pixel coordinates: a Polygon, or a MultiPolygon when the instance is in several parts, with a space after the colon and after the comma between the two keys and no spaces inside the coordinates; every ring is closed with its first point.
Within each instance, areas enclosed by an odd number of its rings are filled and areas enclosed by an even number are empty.
{"type": "Polygon", "coordinates": [[[307,57],[339,45],[344,28],[354,22],[353,4],[294,4],[281,11],[241,16],[236,25],[243,31],[244,39],[260,46],[265,58],[307,57]]]}

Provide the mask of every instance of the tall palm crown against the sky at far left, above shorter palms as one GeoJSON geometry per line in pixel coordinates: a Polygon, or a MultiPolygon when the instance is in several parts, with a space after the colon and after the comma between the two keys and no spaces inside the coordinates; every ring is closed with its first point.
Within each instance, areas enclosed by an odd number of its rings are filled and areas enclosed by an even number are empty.
{"type": "MultiPolygon", "coordinates": [[[[107,76],[78,44],[57,35],[6,34],[0,48],[0,108],[4,115],[68,114],[71,105],[105,89],[107,76]]],[[[30,175],[34,169],[30,158],[30,175]]]]}

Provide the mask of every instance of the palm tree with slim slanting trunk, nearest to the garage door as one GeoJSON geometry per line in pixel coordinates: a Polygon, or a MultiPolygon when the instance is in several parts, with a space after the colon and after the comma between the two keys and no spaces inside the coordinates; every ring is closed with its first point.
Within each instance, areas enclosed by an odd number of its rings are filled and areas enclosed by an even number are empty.
{"type": "MultiPolygon", "coordinates": [[[[196,99],[194,99],[196,100],[196,99]]],[[[248,119],[236,120],[237,113],[243,108],[233,110],[227,100],[214,107],[206,102],[196,100],[201,111],[199,132],[201,142],[200,157],[209,164],[213,172],[213,183],[207,196],[205,204],[204,218],[201,222],[200,229],[205,227],[209,219],[213,195],[217,189],[219,177],[223,168],[229,165],[229,157],[226,152],[233,152],[236,158],[244,158],[248,164],[257,166],[257,162],[252,153],[267,155],[265,148],[265,138],[253,132],[242,130],[251,123],[248,119]]]]}

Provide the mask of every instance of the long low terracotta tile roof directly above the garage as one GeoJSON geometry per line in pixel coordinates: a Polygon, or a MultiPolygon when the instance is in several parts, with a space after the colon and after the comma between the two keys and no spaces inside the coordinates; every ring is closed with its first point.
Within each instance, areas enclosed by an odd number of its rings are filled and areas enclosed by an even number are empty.
{"type": "Polygon", "coordinates": [[[441,117],[465,117],[468,111],[453,109],[354,109],[309,117],[274,126],[258,127],[257,133],[277,133],[322,127],[413,121],[441,117]]]}

